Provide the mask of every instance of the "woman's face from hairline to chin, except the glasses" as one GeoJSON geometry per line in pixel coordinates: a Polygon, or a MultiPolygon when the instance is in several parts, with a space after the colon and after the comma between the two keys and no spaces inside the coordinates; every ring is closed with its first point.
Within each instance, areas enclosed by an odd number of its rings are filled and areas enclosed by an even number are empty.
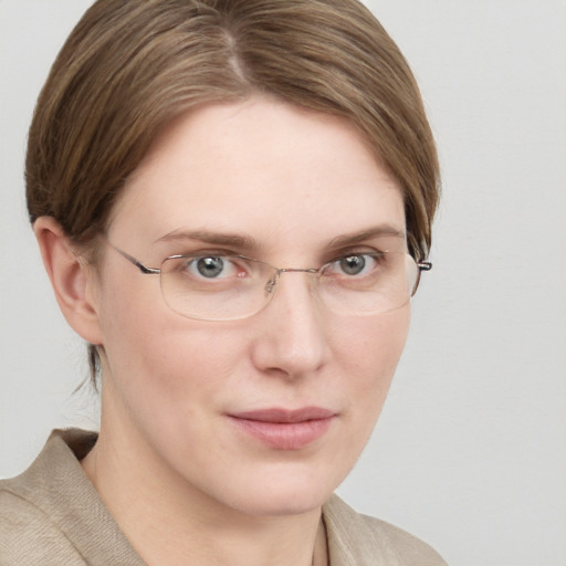
{"type": "MultiPolygon", "coordinates": [[[[379,228],[405,232],[402,198],[354,127],[254,97],[171,124],[127,182],[108,240],[154,268],[199,251],[318,268],[379,248],[379,235],[348,243],[379,228]]],[[[310,275],[284,273],[253,316],[198,321],[171,311],[159,276],[109,247],[97,276],[102,433],[161,483],[220,506],[272,515],[322,505],[371,433],[409,306],[335,314],[310,275]]]]}

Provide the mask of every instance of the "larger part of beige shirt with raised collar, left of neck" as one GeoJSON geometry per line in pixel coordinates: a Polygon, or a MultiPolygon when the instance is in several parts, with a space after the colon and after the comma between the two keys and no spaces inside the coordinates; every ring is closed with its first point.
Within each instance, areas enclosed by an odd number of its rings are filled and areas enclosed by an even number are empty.
{"type": "Polygon", "coordinates": [[[144,564],[81,468],[95,441],[53,431],[25,472],[0,481],[0,566],[144,564]]]}

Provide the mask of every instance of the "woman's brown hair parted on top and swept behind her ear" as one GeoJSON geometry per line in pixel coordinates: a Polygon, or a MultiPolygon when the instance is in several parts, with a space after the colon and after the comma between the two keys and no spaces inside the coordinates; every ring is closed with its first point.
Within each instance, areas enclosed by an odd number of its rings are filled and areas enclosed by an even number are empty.
{"type": "Polygon", "coordinates": [[[96,1],[38,99],[25,161],[31,222],[53,217],[92,250],[171,119],[253,93],[354,124],[401,187],[409,252],[427,258],[440,193],[434,140],[407,61],[357,0],[96,1]]]}

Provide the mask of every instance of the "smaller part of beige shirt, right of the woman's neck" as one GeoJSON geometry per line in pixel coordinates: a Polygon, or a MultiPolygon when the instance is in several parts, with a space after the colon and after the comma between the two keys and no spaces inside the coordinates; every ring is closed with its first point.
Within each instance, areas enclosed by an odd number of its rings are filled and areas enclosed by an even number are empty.
{"type": "Polygon", "coordinates": [[[332,566],[446,566],[428,544],[385,521],[361,515],[333,495],[323,509],[332,566]]]}

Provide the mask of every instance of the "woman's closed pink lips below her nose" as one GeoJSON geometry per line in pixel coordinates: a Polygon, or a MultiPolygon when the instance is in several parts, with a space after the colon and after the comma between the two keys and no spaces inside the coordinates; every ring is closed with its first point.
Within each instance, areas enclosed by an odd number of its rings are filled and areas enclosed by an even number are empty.
{"type": "Polygon", "coordinates": [[[263,409],[231,413],[241,430],[279,450],[298,450],[321,438],[336,413],[319,407],[263,409]]]}

